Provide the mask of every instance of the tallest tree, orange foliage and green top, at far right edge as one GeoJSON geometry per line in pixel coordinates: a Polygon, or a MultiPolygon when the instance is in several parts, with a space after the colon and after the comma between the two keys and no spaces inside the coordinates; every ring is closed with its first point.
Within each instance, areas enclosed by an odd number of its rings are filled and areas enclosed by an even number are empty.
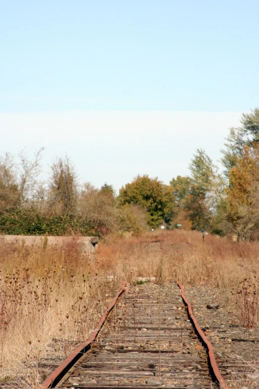
{"type": "MultiPolygon", "coordinates": [[[[259,142],[259,108],[243,113],[240,126],[230,128],[222,150],[225,167],[225,193],[218,203],[215,232],[237,233],[240,238],[255,236],[258,177],[252,174],[257,164],[259,142]],[[252,180],[252,181],[251,181],[252,180]],[[250,182],[251,181],[251,182],[250,182]],[[248,184],[248,182],[250,182],[248,184]]],[[[259,167],[259,166],[258,166],[259,167]]]]}

